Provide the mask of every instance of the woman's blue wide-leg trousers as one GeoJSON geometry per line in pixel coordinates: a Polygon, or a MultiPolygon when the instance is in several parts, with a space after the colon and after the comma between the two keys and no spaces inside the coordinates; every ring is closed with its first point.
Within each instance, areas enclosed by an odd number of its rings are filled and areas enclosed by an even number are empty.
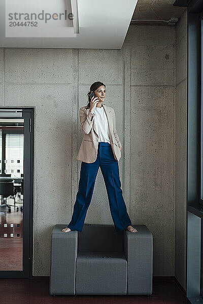
{"type": "Polygon", "coordinates": [[[74,204],[72,219],[69,225],[67,225],[71,230],[81,232],[83,229],[99,167],[101,168],[101,173],[107,188],[115,230],[119,232],[131,225],[131,220],[123,200],[118,161],[114,158],[110,143],[98,142],[95,162],[90,164],[85,162],[81,163],[79,189],[74,204]]]}

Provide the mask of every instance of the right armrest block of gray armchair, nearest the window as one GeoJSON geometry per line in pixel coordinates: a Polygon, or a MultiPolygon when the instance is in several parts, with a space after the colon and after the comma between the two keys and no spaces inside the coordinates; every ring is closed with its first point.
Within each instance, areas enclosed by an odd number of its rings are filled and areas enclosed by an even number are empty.
{"type": "Polygon", "coordinates": [[[132,225],[136,233],[124,231],[127,259],[127,294],[152,294],[153,236],[146,225],[132,225]]]}

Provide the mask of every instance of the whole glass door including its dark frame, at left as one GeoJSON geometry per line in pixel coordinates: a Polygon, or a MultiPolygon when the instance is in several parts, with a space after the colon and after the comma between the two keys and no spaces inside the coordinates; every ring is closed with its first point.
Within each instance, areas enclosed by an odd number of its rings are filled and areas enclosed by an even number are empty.
{"type": "Polygon", "coordinates": [[[29,110],[0,109],[0,277],[5,278],[31,276],[31,116],[29,110]]]}

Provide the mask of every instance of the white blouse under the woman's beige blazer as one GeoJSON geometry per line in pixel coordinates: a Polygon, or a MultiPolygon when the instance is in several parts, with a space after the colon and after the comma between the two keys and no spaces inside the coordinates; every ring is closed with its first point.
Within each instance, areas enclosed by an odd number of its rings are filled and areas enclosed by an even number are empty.
{"type": "Polygon", "coordinates": [[[94,113],[95,132],[98,134],[98,141],[105,141],[111,144],[109,137],[109,124],[104,107],[102,105],[100,108],[95,107],[94,113]]]}

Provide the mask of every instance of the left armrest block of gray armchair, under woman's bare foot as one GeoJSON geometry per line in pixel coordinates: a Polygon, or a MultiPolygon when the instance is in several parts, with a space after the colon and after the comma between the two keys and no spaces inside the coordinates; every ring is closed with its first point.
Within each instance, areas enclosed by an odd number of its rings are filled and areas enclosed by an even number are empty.
{"type": "Polygon", "coordinates": [[[51,234],[49,293],[75,294],[78,231],[61,232],[65,225],[55,225],[51,234]]]}

